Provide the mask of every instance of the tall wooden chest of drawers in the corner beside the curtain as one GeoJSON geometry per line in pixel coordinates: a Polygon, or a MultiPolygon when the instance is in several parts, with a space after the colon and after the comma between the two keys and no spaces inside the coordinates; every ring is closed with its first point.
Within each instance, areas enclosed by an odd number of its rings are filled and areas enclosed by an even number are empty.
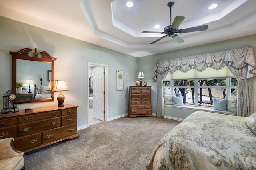
{"type": "Polygon", "coordinates": [[[129,86],[129,117],[152,117],[151,105],[152,86],[129,86]]]}

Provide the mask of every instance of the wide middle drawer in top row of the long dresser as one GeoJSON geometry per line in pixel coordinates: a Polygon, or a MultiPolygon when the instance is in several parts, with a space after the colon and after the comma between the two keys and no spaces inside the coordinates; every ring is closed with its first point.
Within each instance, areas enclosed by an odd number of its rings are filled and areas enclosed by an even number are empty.
{"type": "Polygon", "coordinates": [[[61,111],[51,111],[43,114],[22,116],[22,117],[19,117],[18,120],[19,120],[19,123],[28,123],[28,122],[38,121],[42,119],[60,117],[60,113],[61,111]]]}

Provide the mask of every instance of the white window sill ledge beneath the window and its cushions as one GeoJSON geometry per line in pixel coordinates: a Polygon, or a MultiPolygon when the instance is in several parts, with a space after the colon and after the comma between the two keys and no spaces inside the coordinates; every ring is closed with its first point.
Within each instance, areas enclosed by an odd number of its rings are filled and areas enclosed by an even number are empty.
{"type": "Polygon", "coordinates": [[[174,105],[164,105],[164,107],[174,107],[174,108],[179,108],[179,109],[188,109],[188,110],[195,110],[195,111],[209,111],[213,113],[220,113],[220,114],[225,114],[225,115],[233,115],[236,116],[235,113],[232,113],[230,111],[220,111],[220,110],[215,110],[212,108],[207,108],[207,107],[196,107],[196,106],[174,106],[174,105]]]}

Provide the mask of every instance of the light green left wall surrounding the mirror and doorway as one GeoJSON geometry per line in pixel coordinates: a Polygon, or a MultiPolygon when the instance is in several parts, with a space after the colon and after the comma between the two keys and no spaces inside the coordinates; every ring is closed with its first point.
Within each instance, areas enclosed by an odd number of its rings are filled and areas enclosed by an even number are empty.
{"type": "MultiPolygon", "coordinates": [[[[78,107],[78,127],[86,125],[88,62],[108,65],[108,118],[127,113],[128,86],[134,84],[137,58],[99,47],[45,29],[0,18],[0,96],[12,88],[12,55],[9,51],[35,47],[48,52],[55,61],[55,79],[66,80],[69,91],[63,92],[65,104],[78,107]],[[124,71],[124,90],[116,91],[116,70],[124,71]]],[[[34,50],[33,50],[34,51],[34,50]]],[[[56,100],[18,104],[19,109],[58,105],[56,100]]],[[[2,109],[2,98],[0,109],[2,109]]]]}

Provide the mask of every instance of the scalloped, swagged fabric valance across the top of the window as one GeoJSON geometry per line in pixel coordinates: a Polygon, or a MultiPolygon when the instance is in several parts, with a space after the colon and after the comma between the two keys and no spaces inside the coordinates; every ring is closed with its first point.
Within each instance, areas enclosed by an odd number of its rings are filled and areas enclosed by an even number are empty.
{"type": "Polygon", "coordinates": [[[240,69],[248,66],[247,75],[246,77],[242,77],[242,79],[256,76],[254,48],[245,47],[241,49],[155,61],[153,81],[156,81],[157,77],[160,74],[164,74],[164,72],[174,73],[177,70],[188,72],[191,69],[204,71],[208,67],[220,70],[225,66],[228,66],[230,69],[240,69]]]}

